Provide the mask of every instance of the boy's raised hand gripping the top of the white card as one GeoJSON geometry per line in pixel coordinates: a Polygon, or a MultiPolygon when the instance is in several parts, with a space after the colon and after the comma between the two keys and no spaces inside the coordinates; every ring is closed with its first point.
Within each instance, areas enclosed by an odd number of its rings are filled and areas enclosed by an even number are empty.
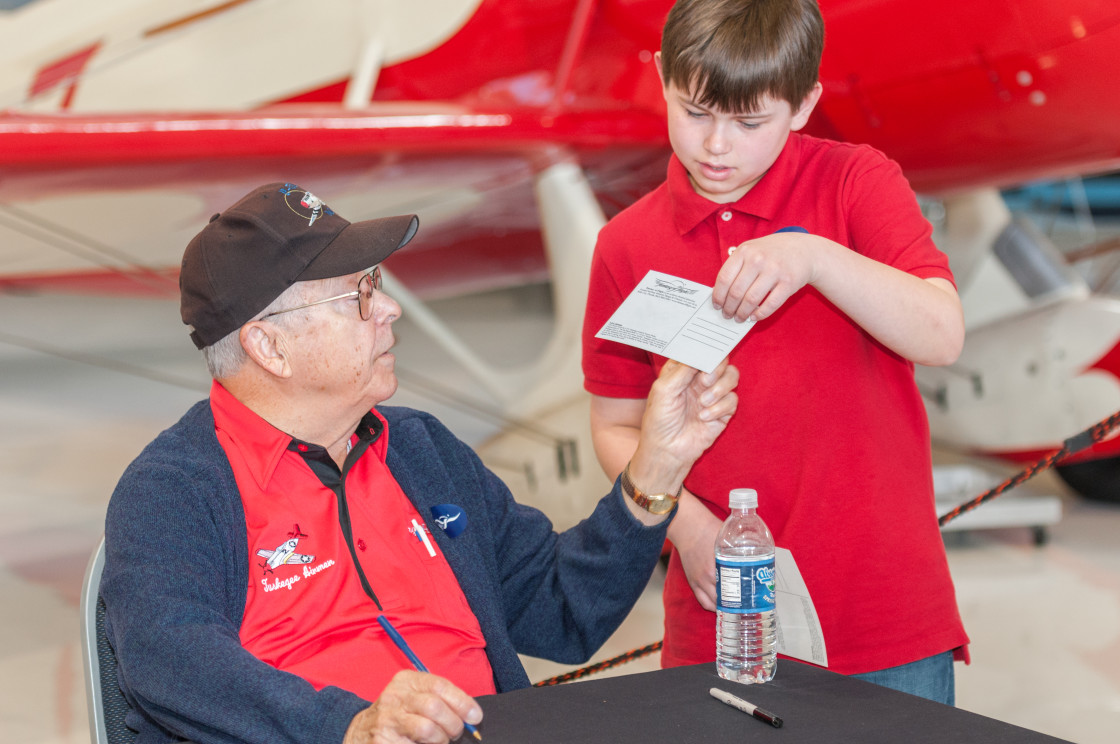
{"type": "Polygon", "coordinates": [[[731,247],[716,277],[712,304],[724,317],[739,323],[769,317],[816,279],[814,240],[805,233],[781,232],[731,247]]]}

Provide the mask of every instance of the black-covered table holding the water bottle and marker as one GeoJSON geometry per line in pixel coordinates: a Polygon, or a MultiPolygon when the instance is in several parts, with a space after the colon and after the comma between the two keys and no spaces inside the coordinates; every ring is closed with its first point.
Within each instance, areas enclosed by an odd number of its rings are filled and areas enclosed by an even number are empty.
{"type": "Polygon", "coordinates": [[[785,659],[765,685],[728,682],[708,663],[488,695],[478,701],[485,744],[1064,741],[785,659]],[[720,703],[709,695],[712,687],[769,710],[785,725],[773,728],[720,703]]]}

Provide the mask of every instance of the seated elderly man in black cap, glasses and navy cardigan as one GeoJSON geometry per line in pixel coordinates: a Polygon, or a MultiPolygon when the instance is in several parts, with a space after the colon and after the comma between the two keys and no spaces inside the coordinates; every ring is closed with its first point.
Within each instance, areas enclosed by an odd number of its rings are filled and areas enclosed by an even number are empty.
{"type": "Polygon", "coordinates": [[[558,534],[433,417],[381,404],[401,308],[377,264],[417,226],[270,184],[187,247],[211,396],[130,465],[105,526],[138,744],[447,742],[482,720],[472,696],[528,686],[519,652],[585,661],[645,586],[737,373],[668,366],[628,472],[558,534]]]}

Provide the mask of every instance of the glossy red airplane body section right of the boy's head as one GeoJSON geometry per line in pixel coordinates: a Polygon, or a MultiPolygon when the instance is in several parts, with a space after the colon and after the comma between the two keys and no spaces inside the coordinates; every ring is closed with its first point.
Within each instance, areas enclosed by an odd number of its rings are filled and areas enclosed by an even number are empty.
{"type": "Polygon", "coordinates": [[[897,160],[920,193],[1120,168],[1120,6],[820,0],[824,134],[897,160]]]}

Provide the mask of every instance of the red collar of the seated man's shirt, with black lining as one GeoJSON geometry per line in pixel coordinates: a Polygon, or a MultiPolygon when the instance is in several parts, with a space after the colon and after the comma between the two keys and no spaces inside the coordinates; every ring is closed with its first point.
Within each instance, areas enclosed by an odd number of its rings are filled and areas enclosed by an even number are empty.
{"type": "MultiPolygon", "coordinates": [[[[215,429],[223,431],[237,448],[262,491],[267,490],[286,452],[290,449],[302,454],[311,447],[321,449],[276,428],[234,398],[217,380],[211,385],[209,401],[215,429]]],[[[367,440],[370,450],[384,462],[389,447],[389,424],[376,409],[362,417],[352,435],[352,441],[357,440],[367,440]]]]}

